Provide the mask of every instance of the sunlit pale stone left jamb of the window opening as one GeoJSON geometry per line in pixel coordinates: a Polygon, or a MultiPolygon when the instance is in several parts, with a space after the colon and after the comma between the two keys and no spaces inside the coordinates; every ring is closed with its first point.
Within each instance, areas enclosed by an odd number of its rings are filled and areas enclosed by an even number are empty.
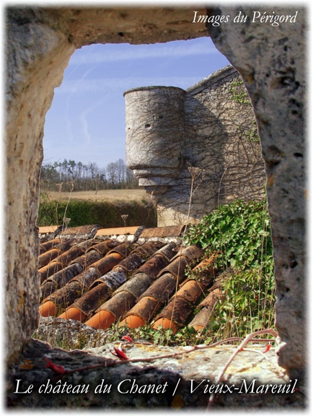
{"type": "MultiPolygon", "coordinates": [[[[28,19],[25,14],[24,19],[28,19]]],[[[45,113],[74,46],[47,25],[11,21],[6,53],[6,310],[8,355],[19,351],[38,325],[39,172],[45,113]]]]}

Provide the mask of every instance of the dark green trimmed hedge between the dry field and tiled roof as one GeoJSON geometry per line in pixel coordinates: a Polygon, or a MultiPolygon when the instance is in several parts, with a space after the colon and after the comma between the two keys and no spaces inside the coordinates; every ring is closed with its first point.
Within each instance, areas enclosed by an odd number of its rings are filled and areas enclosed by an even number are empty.
{"type": "Polygon", "coordinates": [[[157,227],[157,210],[152,203],[137,201],[41,201],[37,226],[63,223],[64,214],[70,218],[69,227],[99,224],[104,228],[122,227],[121,215],[128,215],[126,226],[157,227]],[[67,208],[66,208],[67,207],[67,208]],[[65,214],[66,210],[66,214],[65,214]]]}

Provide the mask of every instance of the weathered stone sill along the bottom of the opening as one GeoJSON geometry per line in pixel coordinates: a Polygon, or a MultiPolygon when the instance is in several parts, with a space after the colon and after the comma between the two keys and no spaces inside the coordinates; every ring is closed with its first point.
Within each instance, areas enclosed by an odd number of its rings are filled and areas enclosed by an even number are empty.
{"type": "MultiPolygon", "coordinates": [[[[216,384],[227,360],[235,351],[235,347],[227,345],[188,352],[192,347],[127,344],[122,349],[135,361],[123,362],[112,355],[114,347],[120,347],[120,343],[106,344],[85,352],[68,352],[32,340],[8,376],[8,405],[17,409],[100,407],[107,410],[204,410],[208,406],[212,384],[216,384]],[[46,359],[63,366],[66,371],[76,371],[57,375],[47,368],[46,359]],[[31,393],[14,394],[16,391],[27,391],[31,384],[31,393]]],[[[218,384],[222,393],[215,395],[212,410],[224,406],[236,410],[298,410],[306,406],[300,384],[285,376],[273,351],[264,355],[262,350],[263,345],[258,345],[238,353],[225,372],[223,382],[218,384]],[[284,393],[272,394],[270,384],[284,393]]]]}

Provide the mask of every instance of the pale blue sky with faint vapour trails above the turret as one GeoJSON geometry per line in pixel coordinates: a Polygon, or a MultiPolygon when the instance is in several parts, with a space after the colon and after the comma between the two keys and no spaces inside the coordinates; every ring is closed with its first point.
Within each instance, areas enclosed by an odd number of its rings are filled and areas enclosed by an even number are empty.
{"type": "Polygon", "coordinates": [[[155,45],[96,44],[71,56],[54,90],[43,138],[44,162],[125,160],[126,89],[172,85],[186,89],[228,65],[209,37],[155,45]]]}

